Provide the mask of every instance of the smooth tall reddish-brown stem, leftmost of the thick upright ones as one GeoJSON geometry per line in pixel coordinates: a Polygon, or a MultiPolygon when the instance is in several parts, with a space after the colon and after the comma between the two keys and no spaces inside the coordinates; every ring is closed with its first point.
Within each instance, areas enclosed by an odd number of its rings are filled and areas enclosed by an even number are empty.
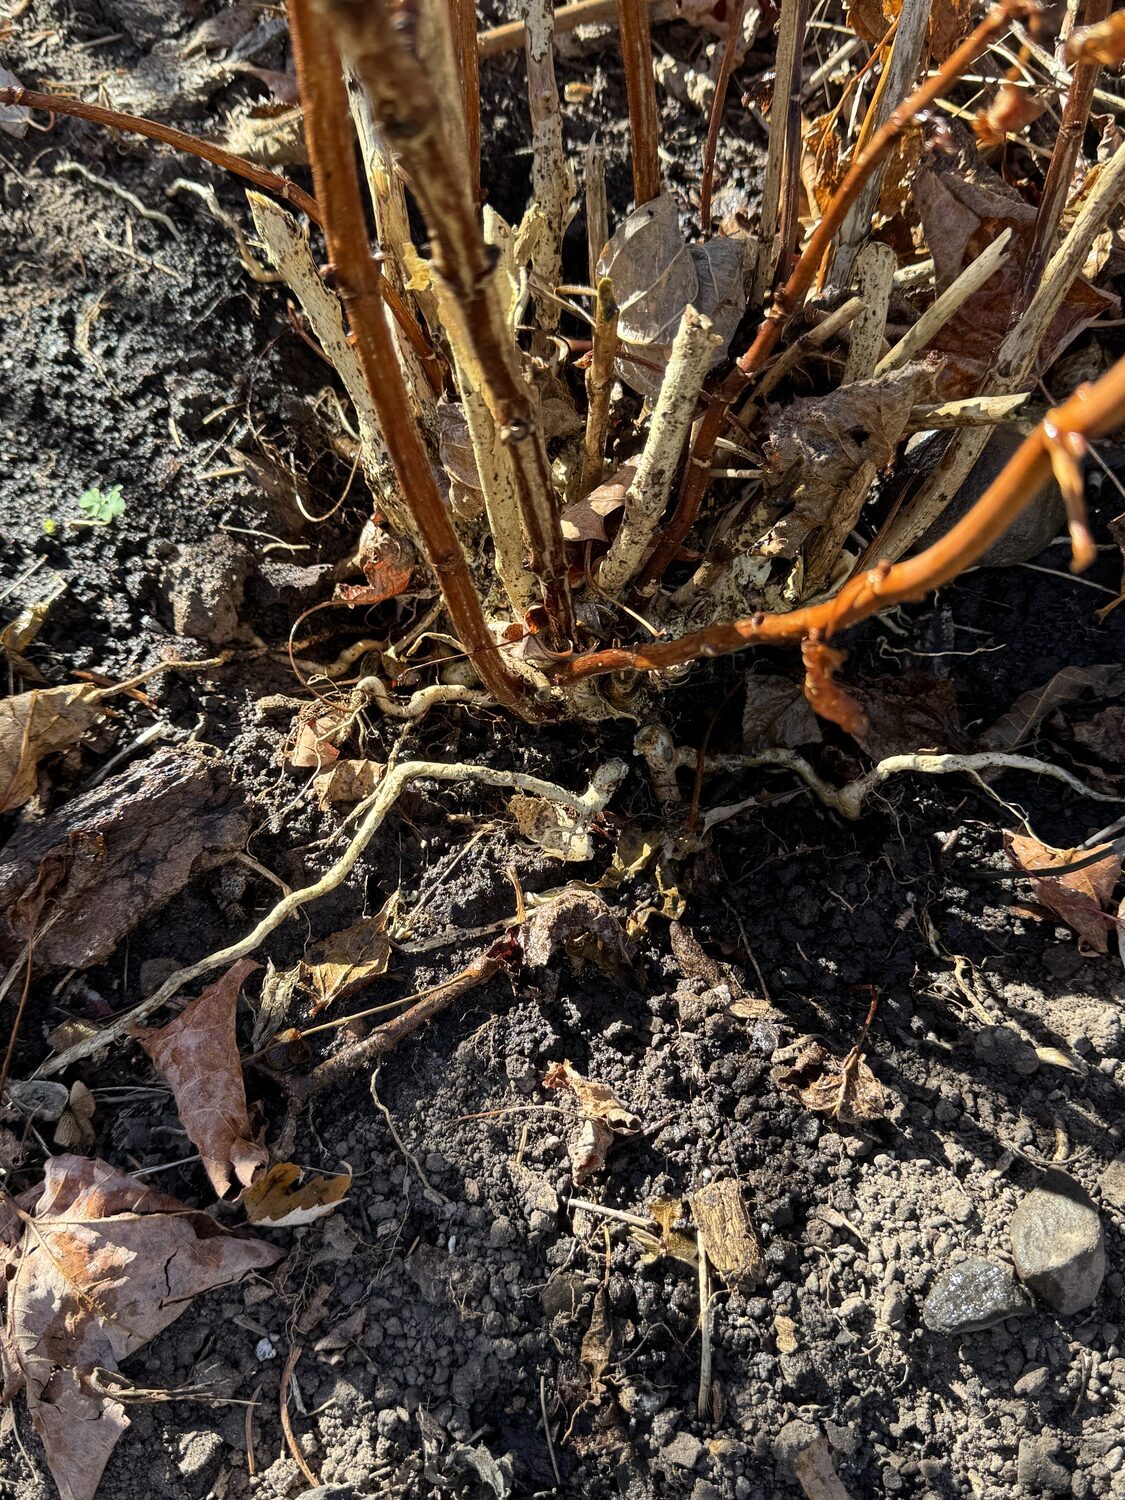
{"type": "Polygon", "coordinates": [[[290,33],[304,105],[304,134],[328,256],[342,288],[356,352],[380,417],[405,504],[432,567],[450,621],[482,681],[498,704],[528,718],[542,717],[524,678],[512,672],[489,633],[476,585],[460,550],[434,466],[406,398],[382,303],[381,273],[368,248],[356,142],[340,57],[332,33],[318,26],[309,0],[290,0],[290,33]]]}

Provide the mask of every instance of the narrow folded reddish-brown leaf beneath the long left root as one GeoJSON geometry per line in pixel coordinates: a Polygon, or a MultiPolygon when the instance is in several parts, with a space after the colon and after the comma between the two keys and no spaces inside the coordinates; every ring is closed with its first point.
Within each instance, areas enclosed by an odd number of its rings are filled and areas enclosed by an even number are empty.
{"type": "Polygon", "coordinates": [[[222,1197],[231,1168],[243,1186],[270,1160],[250,1140],[234,1014],[243,981],[261,964],[238,958],[220,980],[190,1000],[166,1026],[136,1028],[134,1035],[165,1077],[188,1138],[202,1156],[212,1186],[222,1197]]]}

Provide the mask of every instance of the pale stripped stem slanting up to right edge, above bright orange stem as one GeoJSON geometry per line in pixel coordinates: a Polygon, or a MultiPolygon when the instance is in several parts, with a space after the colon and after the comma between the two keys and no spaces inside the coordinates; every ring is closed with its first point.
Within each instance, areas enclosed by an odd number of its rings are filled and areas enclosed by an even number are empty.
{"type": "MultiPolygon", "coordinates": [[[[987,376],[993,394],[1005,396],[1026,384],[1040,345],[1064,297],[1074,285],[1090,246],[1122,196],[1125,196],[1125,146],[1119,146],[1102,166],[1065,240],[1052,256],[1030,306],[1000,345],[993,372],[987,376]]],[[[884,538],[885,556],[891,561],[904,556],[926,536],[969,477],[987,441],[987,428],[966,428],[954,436],[938,468],[915,498],[903,506],[884,538]]]]}

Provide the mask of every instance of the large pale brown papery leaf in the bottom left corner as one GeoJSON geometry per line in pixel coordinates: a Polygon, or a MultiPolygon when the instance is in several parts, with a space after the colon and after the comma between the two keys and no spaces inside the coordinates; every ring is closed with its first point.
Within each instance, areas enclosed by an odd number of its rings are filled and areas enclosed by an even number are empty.
{"type": "Polygon", "coordinates": [[[26,1384],[62,1500],[92,1500],[129,1425],[96,1372],[280,1252],[86,1156],[52,1156],[34,1198],[8,1287],[9,1374],[26,1384]]]}

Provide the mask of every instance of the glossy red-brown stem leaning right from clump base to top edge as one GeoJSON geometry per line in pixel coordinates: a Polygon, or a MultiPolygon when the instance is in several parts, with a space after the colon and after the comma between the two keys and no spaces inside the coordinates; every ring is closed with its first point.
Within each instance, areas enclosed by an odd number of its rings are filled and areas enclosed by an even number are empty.
{"type": "Polygon", "coordinates": [[[660,546],[656,548],[638,578],[639,590],[657,582],[663,576],[664,568],[680,550],[684,537],[696,524],[699,507],[702,506],[710,486],[714,447],[726,423],[728,410],[742,393],[746,381],[764,369],[789,320],[802,306],[820,261],[828,252],[840,225],[846,219],[848,210],[862,192],[868,177],[879,162],[882,162],[892,150],[896,141],[903,130],[906,130],[914,117],[921,110],[928,108],[934,99],[939,99],[944,93],[946,93],[950,86],[970,68],[986,46],[988,46],[990,42],[999,36],[1004,27],[1008,26],[1012,16],[1020,15],[1026,9],[1026,0],[1002,0],[1000,4],[994,6],[976,30],[972,32],[972,34],[950,54],[948,60],[938,69],[938,72],[932,78],[927,78],[920,88],[916,88],[898,105],[897,110],[894,110],[891,116],[888,116],[884,124],[872,136],[870,146],[867,146],[855,162],[852,162],[848,176],[840,183],[825,208],[824,218],[808,237],[808,242],[801,252],[801,258],[794,267],[789,280],[776,292],[772,306],[770,308],[768,315],[762,320],[753,344],[735,363],[735,368],[712,396],[711,406],[700,422],[696,441],[692,446],[692,458],[684,472],[676,508],[664,526],[664,536],[660,546]]]}

